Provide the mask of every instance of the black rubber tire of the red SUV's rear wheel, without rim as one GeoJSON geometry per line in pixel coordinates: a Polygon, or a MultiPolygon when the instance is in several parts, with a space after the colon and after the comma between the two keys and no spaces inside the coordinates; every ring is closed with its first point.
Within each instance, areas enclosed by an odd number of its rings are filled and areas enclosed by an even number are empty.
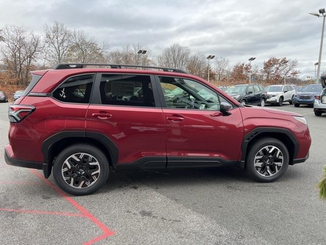
{"type": "MultiPolygon", "coordinates": [[[[64,149],[56,158],[53,163],[53,177],[59,187],[73,195],[87,195],[97,191],[107,180],[109,171],[109,164],[104,153],[91,144],[73,144],[64,149]],[[89,154],[94,157],[99,165],[98,178],[90,186],[84,188],[77,188],[70,186],[63,178],[62,167],[66,159],[78,153],[89,154]]],[[[77,171],[78,172],[78,171],[77,171]]],[[[93,175],[92,175],[93,177],[93,175]]],[[[71,180],[70,180],[71,183],[71,180]]]]}

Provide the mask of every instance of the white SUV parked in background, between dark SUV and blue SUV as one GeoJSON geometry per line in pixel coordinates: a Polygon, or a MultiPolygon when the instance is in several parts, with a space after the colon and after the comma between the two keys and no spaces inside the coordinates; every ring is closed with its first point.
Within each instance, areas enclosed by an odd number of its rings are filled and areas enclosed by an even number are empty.
{"type": "Polygon", "coordinates": [[[292,85],[270,85],[265,88],[267,92],[267,104],[277,104],[282,106],[284,102],[293,104],[295,90],[292,85]]]}

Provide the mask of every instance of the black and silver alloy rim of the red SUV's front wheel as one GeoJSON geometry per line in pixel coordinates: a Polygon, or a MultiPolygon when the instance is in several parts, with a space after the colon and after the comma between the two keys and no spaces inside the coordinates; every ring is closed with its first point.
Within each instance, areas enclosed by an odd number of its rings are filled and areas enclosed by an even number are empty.
{"type": "Polygon", "coordinates": [[[257,173],[264,177],[270,177],[278,173],[283,165],[283,153],[274,145],[264,146],[254,158],[254,166],[257,173]]]}

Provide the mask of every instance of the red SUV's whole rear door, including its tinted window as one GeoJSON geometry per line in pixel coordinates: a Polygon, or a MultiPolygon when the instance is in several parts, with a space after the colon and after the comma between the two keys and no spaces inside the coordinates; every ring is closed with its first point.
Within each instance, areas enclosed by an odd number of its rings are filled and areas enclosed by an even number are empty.
{"type": "Polygon", "coordinates": [[[166,167],[165,120],[153,80],[148,75],[96,75],[86,131],[111,139],[118,163],[166,167]]]}

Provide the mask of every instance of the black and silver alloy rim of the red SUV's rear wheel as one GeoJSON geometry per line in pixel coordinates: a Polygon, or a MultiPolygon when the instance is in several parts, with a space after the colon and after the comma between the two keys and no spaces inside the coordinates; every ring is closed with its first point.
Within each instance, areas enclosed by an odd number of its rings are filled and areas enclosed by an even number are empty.
{"type": "Polygon", "coordinates": [[[100,170],[97,159],[87,153],[69,156],[61,167],[62,178],[68,185],[77,189],[93,185],[99,178],[100,170]]]}

